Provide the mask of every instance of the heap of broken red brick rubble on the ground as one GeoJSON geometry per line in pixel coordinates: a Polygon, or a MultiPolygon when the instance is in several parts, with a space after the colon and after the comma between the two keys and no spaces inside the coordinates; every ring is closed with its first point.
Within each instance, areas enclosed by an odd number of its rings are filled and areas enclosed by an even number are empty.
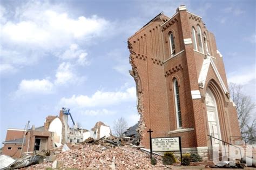
{"type": "MultiPolygon", "coordinates": [[[[77,145],[75,149],[56,154],[54,162],[46,162],[45,160],[42,164],[32,165],[29,168],[147,169],[165,167],[161,164],[161,161],[158,161],[156,166],[151,165],[149,154],[139,149],[133,149],[128,145],[114,146],[107,140],[112,141],[110,139],[98,141],[87,139],[87,142],[77,145]]],[[[112,142],[115,143],[114,141],[112,142]]]]}

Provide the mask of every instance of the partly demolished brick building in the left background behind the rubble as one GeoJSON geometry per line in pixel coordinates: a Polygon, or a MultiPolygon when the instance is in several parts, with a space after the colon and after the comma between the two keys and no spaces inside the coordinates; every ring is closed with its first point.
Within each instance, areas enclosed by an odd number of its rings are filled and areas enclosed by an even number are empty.
{"type": "Polygon", "coordinates": [[[19,158],[24,154],[47,151],[65,143],[79,143],[89,137],[98,139],[111,135],[110,127],[101,121],[97,122],[92,130],[83,130],[82,127],[77,126],[70,114],[69,109],[62,108],[58,116],[46,117],[44,126],[33,125],[28,130],[8,128],[5,141],[2,142],[4,145],[2,153],[12,158],[19,158]],[[69,115],[73,127],[68,124],[69,115]]]}

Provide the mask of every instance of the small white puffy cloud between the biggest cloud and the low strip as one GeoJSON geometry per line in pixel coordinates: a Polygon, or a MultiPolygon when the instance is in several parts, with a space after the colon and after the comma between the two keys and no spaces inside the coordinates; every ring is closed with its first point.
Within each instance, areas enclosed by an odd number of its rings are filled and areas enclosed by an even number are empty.
{"type": "Polygon", "coordinates": [[[55,85],[80,84],[85,80],[84,77],[78,77],[77,74],[74,73],[70,63],[65,62],[59,65],[55,76],[55,85]]]}

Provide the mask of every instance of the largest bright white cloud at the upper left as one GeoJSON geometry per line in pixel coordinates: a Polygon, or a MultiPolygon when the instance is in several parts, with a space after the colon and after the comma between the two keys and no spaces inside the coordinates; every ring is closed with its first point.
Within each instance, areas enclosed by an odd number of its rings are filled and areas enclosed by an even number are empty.
{"type": "Polygon", "coordinates": [[[47,3],[25,4],[16,9],[16,15],[19,17],[17,22],[8,21],[2,25],[4,40],[39,46],[43,49],[61,47],[75,39],[89,40],[102,35],[109,25],[108,21],[96,15],[71,18],[68,11],[56,11],[47,3]],[[39,5],[42,5],[41,8],[39,5]]]}

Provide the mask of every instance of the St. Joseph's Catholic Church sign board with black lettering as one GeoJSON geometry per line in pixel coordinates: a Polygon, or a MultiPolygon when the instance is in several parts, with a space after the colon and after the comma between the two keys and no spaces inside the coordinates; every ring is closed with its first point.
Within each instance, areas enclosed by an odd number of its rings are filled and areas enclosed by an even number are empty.
{"type": "Polygon", "coordinates": [[[180,137],[151,138],[152,152],[181,151],[180,137]]]}

